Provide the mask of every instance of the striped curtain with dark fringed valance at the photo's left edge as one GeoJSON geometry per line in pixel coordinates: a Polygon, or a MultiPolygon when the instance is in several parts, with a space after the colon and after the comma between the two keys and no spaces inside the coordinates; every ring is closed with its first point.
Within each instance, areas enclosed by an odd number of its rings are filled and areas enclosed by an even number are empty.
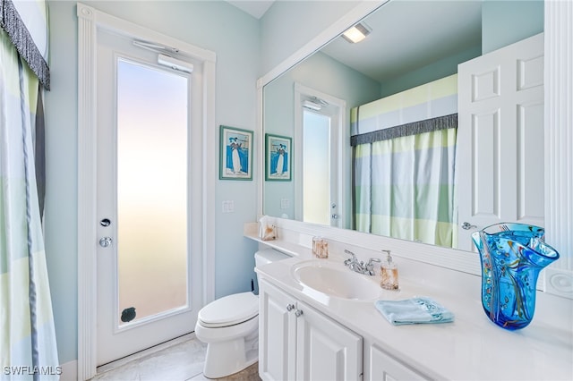
{"type": "Polygon", "coordinates": [[[37,174],[43,169],[41,99],[49,72],[30,36],[30,30],[43,29],[47,41],[46,13],[43,1],[0,0],[2,380],[59,379],[60,373],[40,217],[44,176],[37,174]],[[32,24],[24,24],[17,6],[31,15],[32,24]]]}

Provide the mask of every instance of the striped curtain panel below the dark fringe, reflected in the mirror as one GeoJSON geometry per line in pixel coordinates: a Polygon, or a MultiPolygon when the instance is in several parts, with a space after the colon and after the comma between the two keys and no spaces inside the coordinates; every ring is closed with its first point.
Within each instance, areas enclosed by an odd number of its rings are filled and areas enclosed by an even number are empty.
{"type": "Polygon", "coordinates": [[[355,229],[454,247],[456,131],[355,146],[355,229]]]}

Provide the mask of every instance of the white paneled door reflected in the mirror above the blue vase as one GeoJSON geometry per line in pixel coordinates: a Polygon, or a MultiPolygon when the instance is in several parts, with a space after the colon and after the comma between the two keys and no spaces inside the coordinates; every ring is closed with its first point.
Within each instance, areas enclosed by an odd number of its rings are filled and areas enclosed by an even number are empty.
{"type": "Polygon", "coordinates": [[[459,249],[489,224],[543,226],[543,141],[543,33],[459,64],[459,249]]]}

